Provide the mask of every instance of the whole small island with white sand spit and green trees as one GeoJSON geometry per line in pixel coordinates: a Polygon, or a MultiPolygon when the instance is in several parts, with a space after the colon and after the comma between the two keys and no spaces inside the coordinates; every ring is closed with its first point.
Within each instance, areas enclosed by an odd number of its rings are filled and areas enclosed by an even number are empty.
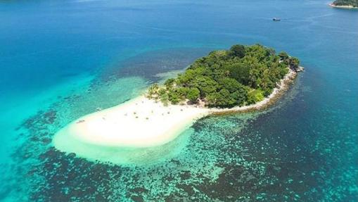
{"type": "Polygon", "coordinates": [[[53,146],[117,163],[116,149],[166,144],[206,115],[266,107],[302,71],[299,64],[260,44],[212,51],[143,96],[71,122],[56,133],[53,146]]]}

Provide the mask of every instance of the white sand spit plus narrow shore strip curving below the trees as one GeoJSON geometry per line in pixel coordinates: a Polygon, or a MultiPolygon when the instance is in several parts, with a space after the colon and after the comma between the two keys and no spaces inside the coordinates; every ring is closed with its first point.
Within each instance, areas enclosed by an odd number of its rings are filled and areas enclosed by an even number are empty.
{"type": "Polygon", "coordinates": [[[290,70],[267,98],[250,106],[224,109],[195,105],[163,106],[160,101],[139,96],[71,122],[55,134],[52,143],[60,151],[89,159],[93,157],[89,156],[88,150],[96,146],[107,149],[160,146],[177,138],[196,120],[207,115],[266,108],[283,94],[296,75],[290,70]]]}

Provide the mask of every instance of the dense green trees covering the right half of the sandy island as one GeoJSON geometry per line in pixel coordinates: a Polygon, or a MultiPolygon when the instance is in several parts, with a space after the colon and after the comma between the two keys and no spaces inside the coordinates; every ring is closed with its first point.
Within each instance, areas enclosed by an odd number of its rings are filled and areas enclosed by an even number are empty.
{"type": "Polygon", "coordinates": [[[297,68],[297,58],[276,54],[260,44],[234,45],[228,51],[212,51],[198,58],[185,72],[154,84],[148,97],[162,103],[205,103],[209,107],[231,108],[264,99],[288,73],[297,68]]]}

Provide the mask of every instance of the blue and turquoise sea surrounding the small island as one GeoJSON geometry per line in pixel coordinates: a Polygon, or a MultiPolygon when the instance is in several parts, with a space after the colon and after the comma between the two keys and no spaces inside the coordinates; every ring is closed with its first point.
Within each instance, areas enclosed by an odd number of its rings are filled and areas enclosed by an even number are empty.
{"type": "Polygon", "coordinates": [[[357,201],[358,12],[327,3],[1,1],[0,201],[357,201]],[[203,118],[132,165],[51,147],[75,118],[236,43],[306,70],[269,110],[203,118]]]}

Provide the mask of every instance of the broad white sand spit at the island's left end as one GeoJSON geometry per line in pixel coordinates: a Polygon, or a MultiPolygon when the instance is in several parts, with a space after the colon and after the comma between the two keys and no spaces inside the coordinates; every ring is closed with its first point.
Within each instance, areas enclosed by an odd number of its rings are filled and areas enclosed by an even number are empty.
{"type": "Polygon", "coordinates": [[[100,146],[148,147],[165,144],[209,113],[195,106],[163,106],[139,96],[118,106],[85,115],[60,130],[53,139],[76,137],[87,144],[100,146]]]}

